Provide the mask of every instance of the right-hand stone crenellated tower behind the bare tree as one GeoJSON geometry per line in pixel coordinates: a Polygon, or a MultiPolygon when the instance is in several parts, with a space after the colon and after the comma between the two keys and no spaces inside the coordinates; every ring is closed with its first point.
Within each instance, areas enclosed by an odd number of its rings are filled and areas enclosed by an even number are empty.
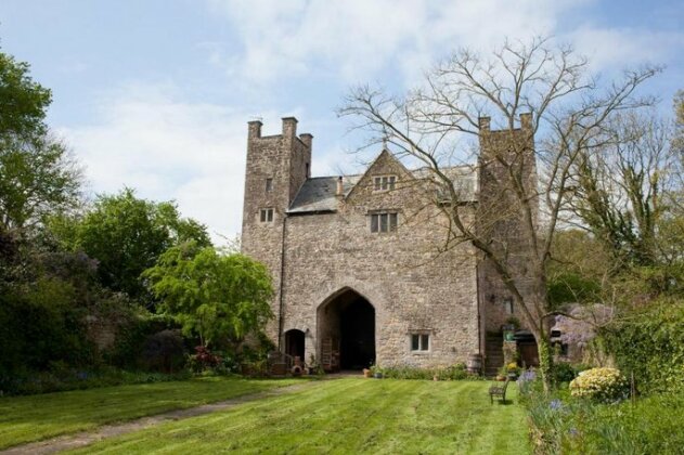
{"type": "MultiPolygon", "coordinates": [[[[490,119],[479,119],[480,155],[479,196],[477,210],[477,229],[481,238],[488,239],[489,247],[496,257],[505,258],[513,271],[512,278],[517,288],[525,295],[531,291],[529,260],[533,247],[529,235],[530,220],[537,229],[538,205],[535,196],[537,166],[534,158],[534,128],[531,114],[521,114],[519,128],[492,130],[490,119]],[[527,213],[520,204],[520,188],[531,204],[531,213],[527,213]]],[[[496,367],[504,362],[509,352],[506,342],[501,351],[502,326],[513,318],[525,324],[522,310],[518,308],[513,296],[496,273],[493,263],[485,259],[478,265],[479,304],[481,336],[485,338],[486,365],[488,374],[495,374],[496,367]]],[[[526,342],[518,340],[520,350],[526,342]]],[[[516,343],[511,344],[515,351],[516,343]]],[[[524,355],[525,356],[525,355],[524,355]]],[[[528,359],[529,361],[529,359],[528,359]]]]}

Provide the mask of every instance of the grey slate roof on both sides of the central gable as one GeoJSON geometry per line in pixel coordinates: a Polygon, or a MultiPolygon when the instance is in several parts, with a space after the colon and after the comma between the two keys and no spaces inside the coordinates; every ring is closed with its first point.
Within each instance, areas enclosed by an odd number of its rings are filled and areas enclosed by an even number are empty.
{"type": "MultiPolygon", "coordinates": [[[[442,171],[451,177],[456,188],[462,193],[462,202],[477,200],[477,173],[467,166],[443,168],[442,171]]],[[[430,176],[428,169],[417,169],[411,171],[416,179],[425,179],[430,176]]],[[[343,176],[343,186],[345,196],[349,194],[363,174],[343,176]]],[[[314,213],[337,210],[337,179],[339,176],[313,177],[299,188],[287,213],[314,213]]]]}

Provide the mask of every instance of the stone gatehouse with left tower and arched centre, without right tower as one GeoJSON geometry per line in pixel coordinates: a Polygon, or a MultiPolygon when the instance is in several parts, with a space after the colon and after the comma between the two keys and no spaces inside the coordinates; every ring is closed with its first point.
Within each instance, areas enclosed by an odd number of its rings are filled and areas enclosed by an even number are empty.
{"type": "MultiPolygon", "coordinates": [[[[311,177],[313,136],[298,135],[293,117],[278,135],[261,127],[248,123],[242,249],[272,274],[268,334],[281,351],[333,369],[446,366],[490,352],[490,364],[502,362],[495,336],[512,300],[473,246],[440,248],[447,220],[425,170],[379,150],[362,174],[311,177]]],[[[481,177],[448,172],[475,217],[481,177]]]]}

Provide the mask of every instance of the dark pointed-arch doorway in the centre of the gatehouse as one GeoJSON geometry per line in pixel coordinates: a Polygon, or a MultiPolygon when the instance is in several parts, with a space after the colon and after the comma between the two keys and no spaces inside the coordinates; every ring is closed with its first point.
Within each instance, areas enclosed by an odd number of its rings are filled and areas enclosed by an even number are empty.
{"type": "Polygon", "coordinates": [[[327,370],[362,369],[375,363],[375,308],[344,288],[318,310],[321,364],[327,370]]]}

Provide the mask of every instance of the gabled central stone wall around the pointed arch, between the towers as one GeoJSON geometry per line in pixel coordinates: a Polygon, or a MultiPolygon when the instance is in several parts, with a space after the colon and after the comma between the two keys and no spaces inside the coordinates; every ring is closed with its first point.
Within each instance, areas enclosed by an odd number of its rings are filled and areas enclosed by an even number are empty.
{"type": "Polygon", "coordinates": [[[478,352],[473,248],[462,245],[437,255],[444,223],[436,222],[435,207],[420,197],[416,184],[385,152],[337,212],[287,219],[283,328],[309,329],[307,358],[320,349],[318,325],[325,321],[319,309],[346,288],[375,308],[380,365],[449,365],[478,352]],[[397,188],[375,193],[375,174],[398,176],[397,188]],[[397,231],[372,233],[375,210],[398,211],[397,231]],[[428,352],[411,352],[413,332],[430,334],[428,352]]]}

